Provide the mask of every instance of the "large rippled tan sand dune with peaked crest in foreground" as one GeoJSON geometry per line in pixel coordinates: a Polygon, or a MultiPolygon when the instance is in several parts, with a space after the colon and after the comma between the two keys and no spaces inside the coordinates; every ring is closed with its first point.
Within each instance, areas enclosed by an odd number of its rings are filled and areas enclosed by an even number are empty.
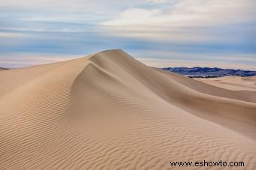
{"type": "Polygon", "coordinates": [[[146,67],[121,50],[2,70],[0,81],[0,169],[172,169],[170,161],[203,160],[256,169],[254,92],[146,67]]]}

